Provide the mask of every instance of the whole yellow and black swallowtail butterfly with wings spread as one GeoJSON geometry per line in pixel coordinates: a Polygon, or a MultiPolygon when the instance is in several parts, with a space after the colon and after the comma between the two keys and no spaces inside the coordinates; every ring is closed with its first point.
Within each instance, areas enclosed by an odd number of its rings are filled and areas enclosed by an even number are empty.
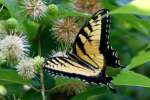
{"type": "Polygon", "coordinates": [[[111,88],[112,77],[106,76],[106,66],[122,66],[119,64],[116,51],[109,43],[109,25],[108,10],[96,12],[79,31],[72,52],[67,56],[47,59],[43,64],[44,70],[57,75],[77,77],[89,83],[104,84],[111,88]]]}

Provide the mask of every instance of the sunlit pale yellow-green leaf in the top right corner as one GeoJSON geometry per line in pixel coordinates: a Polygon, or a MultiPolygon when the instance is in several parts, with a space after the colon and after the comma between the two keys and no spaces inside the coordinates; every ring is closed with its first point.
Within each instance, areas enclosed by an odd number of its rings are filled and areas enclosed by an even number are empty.
{"type": "Polygon", "coordinates": [[[111,14],[139,14],[150,16],[149,0],[134,0],[111,12],[111,14]]]}

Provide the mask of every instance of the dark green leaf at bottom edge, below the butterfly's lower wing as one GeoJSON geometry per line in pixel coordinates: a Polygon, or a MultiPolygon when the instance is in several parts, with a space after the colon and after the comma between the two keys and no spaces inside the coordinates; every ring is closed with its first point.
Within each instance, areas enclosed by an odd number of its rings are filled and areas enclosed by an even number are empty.
{"type": "Polygon", "coordinates": [[[105,90],[105,87],[92,87],[91,89],[88,89],[88,91],[80,93],[79,95],[73,97],[71,100],[87,100],[90,96],[101,95],[105,93],[105,90]]]}

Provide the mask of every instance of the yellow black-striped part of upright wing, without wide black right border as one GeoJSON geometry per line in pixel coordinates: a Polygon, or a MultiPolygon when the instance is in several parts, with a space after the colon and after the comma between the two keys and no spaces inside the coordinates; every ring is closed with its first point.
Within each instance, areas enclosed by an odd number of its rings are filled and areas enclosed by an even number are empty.
{"type": "Polygon", "coordinates": [[[102,33],[103,19],[108,20],[106,24],[109,26],[110,18],[107,16],[107,10],[100,10],[92,16],[77,35],[73,51],[75,55],[99,71],[105,66],[105,57],[99,49],[101,35],[105,34],[102,33]]]}

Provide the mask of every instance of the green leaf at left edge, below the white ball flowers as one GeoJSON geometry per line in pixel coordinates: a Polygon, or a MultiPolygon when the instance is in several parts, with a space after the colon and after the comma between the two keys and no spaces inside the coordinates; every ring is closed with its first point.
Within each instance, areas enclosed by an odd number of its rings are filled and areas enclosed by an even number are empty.
{"type": "Polygon", "coordinates": [[[17,84],[28,84],[29,81],[24,80],[17,74],[15,70],[0,68],[0,80],[17,84]]]}

